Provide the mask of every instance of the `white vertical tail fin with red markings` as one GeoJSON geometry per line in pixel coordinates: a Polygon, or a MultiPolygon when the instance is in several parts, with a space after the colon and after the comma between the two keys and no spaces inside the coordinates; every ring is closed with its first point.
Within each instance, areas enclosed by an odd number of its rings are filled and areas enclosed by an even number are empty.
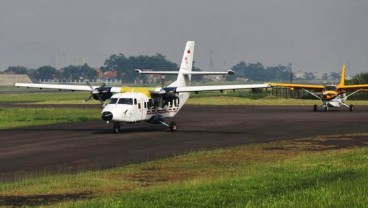
{"type": "Polygon", "coordinates": [[[193,66],[193,54],[194,54],[194,41],[188,41],[185,45],[183,58],[178,73],[178,78],[175,82],[170,84],[170,87],[183,87],[190,85],[191,75],[185,74],[192,71],[193,66]]]}

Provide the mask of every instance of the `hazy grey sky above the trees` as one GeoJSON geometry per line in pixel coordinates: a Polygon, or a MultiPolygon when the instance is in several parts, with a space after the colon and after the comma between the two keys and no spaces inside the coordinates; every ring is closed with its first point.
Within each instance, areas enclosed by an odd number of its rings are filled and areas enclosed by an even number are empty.
{"type": "MultiPolygon", "coordinates": [[[[1,0],[0,70],[99,67],[112,54],[160,53],[180,64],[292,64],[294,72],[368,72],[366,0],[1,0]]],[[[164,70],[164,69],[163,69],[164,70]]]]}

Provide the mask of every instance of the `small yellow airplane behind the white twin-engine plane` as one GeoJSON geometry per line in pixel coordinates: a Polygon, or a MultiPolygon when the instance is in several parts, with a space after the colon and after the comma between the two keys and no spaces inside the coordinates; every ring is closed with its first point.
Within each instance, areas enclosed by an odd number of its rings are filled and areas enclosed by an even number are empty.
{"type": "Polygon", "coordinates": [[[287,87],[290,90],[294,89],[303,89],[307,93],[313,95],[314,97],[322,100],[322,105],[317,106],[316,104],[313,106],[313,110],[317,111],[318,108],[324,109],[326,112],[330,107],[339,108],[341,106],[345,106],[350,109],[350,111],[354,110],[353,105],[345,104],[345,101],[348,97],[353,94],[368,89],[368,84],[359,84],[359,85],[345,85],[345,64],[342,66],[341,70],[341,80],[337,85],[311,85],[311,84],[286,84],[286,83],[268,83],[272,87],[287,87]],[[350,94],[346,95],[347,91],[352,91],[350,94]]]}

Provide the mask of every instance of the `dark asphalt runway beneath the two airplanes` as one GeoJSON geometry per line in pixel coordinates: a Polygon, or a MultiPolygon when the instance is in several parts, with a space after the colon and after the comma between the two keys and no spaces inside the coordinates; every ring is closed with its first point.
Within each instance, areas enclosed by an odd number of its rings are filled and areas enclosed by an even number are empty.
{"type": "MultiPolygon", "coordinates": [[[[312,106],[184,106],[178,131],[161,125],[103,121],[0,131],[0,178],[97,170],[192,151],[367,131],[368,106],[313,112],[312,106]]],[[[366,144],[366,143],[365,143],[366,144]]]]}

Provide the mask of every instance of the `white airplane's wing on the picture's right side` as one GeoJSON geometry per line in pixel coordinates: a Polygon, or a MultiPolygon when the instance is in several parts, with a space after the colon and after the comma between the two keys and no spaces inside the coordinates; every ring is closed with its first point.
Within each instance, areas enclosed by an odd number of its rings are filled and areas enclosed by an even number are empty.
{"type": "Polygon", "coordinates": [[[268,84],[246,84],[246,85],[213,85],[213,86],[185,86],[176,87],[176,92],[201,92],[201,91],[216,91],[216,90],[236,90],[236,89],[253,89],[267,88],[268,84]]]}

